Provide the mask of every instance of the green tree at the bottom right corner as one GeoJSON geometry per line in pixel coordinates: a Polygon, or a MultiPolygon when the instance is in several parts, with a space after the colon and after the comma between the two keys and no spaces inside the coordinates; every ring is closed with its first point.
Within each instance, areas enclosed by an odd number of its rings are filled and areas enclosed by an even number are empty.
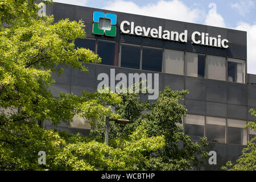
{"type": "MultiPolygon", "coordinates": [[[[250,113],[256,118],[255,110],[251,109],[250,113]]],[[[251,130],[256,131],[256,119],[255,122],[249,122],[245,127],[250,127],[251,130]]],[[[236,164],[232,164],[229,161],[222,169],[229,171],[256,171],[256,136],[247,142],[247,146],[243,148],[236,164]]]]}

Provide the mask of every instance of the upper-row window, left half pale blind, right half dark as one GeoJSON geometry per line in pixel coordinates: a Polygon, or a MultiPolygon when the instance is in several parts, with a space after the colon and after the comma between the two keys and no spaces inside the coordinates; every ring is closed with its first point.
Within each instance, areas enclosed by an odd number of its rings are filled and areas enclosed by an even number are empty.
{"type": "Polygon", "coordinates": [[[186,75],[195,77],[205,77],[205,55],[186,52],[186,75]]]}

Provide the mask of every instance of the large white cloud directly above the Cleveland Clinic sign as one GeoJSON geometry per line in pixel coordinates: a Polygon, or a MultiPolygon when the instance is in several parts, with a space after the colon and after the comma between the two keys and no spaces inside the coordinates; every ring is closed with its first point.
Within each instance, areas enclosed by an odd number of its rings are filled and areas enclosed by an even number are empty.
{"type": "Polygon", "coordinates": [[[144,6],[138,6],[131,1],[117,0],[108,2],[108,5],[102,9],[121,11],[131,14],[145,16],[154,16],[157,18],[174,19],[183,22],[198,22],[204,15],[204,11],[191,9],[179,0],[158,1],[157,3],[148,3],[144,6]]]}

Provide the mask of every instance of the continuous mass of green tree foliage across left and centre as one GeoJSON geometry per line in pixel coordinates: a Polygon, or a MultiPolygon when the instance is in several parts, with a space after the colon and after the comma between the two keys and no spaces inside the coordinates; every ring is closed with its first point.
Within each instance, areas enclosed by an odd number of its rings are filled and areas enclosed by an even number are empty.
{"type": "Polygon", "coordinates": [[[53,16],[39,17],[38,10],[34,0],[0,0],[0,170],[181,170],[200,163],[195,155],[203,155],[205,143],[191,142],[176,126],[185,114],[179,100],[186,91],[167,88],[152,105],[137,94],[53,97],[52,73],[63,72],[58,65],[86,72],[87,63],[101,59],[75,47],[77,38],[86,38],[84,22],[54,23],[53,16]],[[149,112],[142,114],[144,110],[149,112]],[[94,137],[40,125],[69,124],[74,116],[98,120],[94,137]],[[109,146],[102,142],[105,117],[131,121],[125,126],[111,123],[109,146]],[[45,165],[38,164],[39,151],[46,152],[45,165]]]}

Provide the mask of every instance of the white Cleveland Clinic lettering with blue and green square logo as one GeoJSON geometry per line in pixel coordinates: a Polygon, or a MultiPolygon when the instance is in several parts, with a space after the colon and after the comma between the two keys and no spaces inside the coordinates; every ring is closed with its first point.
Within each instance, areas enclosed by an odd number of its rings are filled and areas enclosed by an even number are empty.
{"type": "MultiPolygon", "coordinates": [[[[100,11],[93,12],[93,34],[116,36],[117,32],[117,15],[112,13],[103,13],[100,11]]],[[[143,27],[136,25],[134,22],[123,20],[120,24],[122,34],[137,35],[150,37],[155,39],[171,40],[175,42],[187,43],[188,30],[183,32],[163,30],[162,26],[158,28],[143,27]]],[[[194,31],[191,34],[191,43],[203,46],[228,48],[228,40],[221,39],[221,35],[217,37],[209,36],[206,32],[194,31]]]]}

